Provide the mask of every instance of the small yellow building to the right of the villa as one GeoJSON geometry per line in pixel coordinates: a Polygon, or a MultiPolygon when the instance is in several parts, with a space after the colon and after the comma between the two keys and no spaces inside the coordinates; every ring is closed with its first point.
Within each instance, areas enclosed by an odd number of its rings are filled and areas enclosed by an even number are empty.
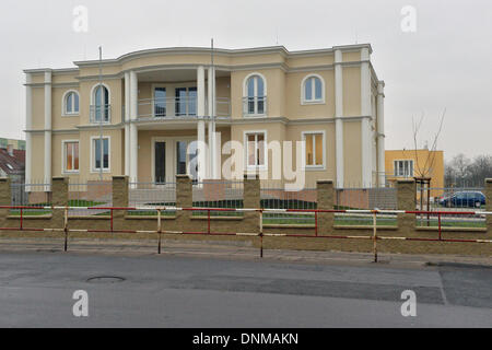
{"type": "Polygon", "coordinates": [[[440,197],[444,192],[444,152],[426,149],[385,151],[385,175],[388,183],[401,178],[430,177],[431,197],[440,197]]]}

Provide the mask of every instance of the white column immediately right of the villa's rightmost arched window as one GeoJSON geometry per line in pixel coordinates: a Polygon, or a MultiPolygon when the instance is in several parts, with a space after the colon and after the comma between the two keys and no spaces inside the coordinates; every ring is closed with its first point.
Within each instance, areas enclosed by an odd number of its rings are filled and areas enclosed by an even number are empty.
{"type": "Polygon", "coordinates": [[[342,54],[335,51],[335,150],[337,167],[337,187],[343,187],[344,162],[343,162],[343,72],[342,54]]]}

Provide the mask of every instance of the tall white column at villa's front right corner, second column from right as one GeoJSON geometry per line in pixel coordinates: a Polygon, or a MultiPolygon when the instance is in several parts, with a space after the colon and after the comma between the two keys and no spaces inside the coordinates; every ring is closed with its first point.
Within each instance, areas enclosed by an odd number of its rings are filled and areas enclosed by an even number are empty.
{"type": "Polygon", "coordinates": [[[373,145],[371,140],[371,70],[368,48],[361,51],[361,137],[362,137],[362,186],[371,187],[373,178],[373,145]]]}

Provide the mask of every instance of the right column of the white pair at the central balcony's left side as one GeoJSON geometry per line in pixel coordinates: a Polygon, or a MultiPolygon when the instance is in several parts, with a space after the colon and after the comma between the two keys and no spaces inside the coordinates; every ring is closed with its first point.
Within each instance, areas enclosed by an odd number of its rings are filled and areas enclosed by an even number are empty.
{"type": "Polygon", "coordinates": [[[139,81],[137,73],[130,71],[130,179],[138,180],[139,167],[139,130],[136,125],[138,119],[139,81]]]}

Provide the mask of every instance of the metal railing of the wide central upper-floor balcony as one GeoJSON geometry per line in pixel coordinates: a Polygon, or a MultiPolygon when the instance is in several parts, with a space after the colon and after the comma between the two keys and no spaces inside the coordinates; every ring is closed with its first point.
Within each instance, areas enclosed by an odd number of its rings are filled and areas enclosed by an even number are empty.
{"type": "MultiPolygon", "coordinates": [[[[191,118],[197,116],[197,97],[165,97],[145,98],[138,102],[139,119],[161,119],[161,118],[191,118]]],[[[125,110],[125,106],[122,106],[125,110]]],[[[215,98],[215,116],[231,116],[231,101],[229,97],[215,98]]],[[[208,114],[208,103],[206,101],[206,114],[208,114]]]]}

